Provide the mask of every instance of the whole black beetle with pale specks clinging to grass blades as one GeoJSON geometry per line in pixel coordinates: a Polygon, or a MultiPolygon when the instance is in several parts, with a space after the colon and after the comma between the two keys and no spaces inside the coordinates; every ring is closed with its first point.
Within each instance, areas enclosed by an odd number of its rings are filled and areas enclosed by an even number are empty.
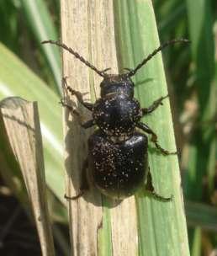
{"type": "MultiPolygon", "coordinates": [[[[80,192],[74,197],[66,196],[66,199],[76,200],[83,195],[91,183],[103,195],[117,200],[123,200],[134,195],[142,187],[142,184],[146,185],[146,191],[156,199],[172,200],[172,197],[166,198],[155,192],[148,167],[148,137],[144,132],[151,135],[151,141],[163,155],[176,154],[177,152],[168,152],[163,149],[157,141],[156,133],[148,125],[140,122],[143,116],[150,114],[160,106],[163,99],[166,99],[168,95],[157,99],[148,108],[141,108],[139,101],[134,98],[135,84],[131,77],[135,76],[135,73],[145,66],[147,61],[151,60],[158,51],[168,45],[180,42],[187,43],[188,40],[167,41],[134,69],[127,69],[128,72],[122,74],[108,74],[109,69],[98,70],[76,51],[59,41],[45,40],[42,42],[43,44],[58,45],[69,51],[87,67],[103,77],[103,81],[100,83],[100,98],[94,104],[85,102],[82,99],[82,93],[67,84],[66,77],[62,79],[64,88],[71,95],[75,95],[86,109],[92,111],[93,119],[81,123],[81,126],[85,129],[93,125],[98,126],[98,130],[94,131],[88,139],[88,156],[82,168],[80,192]]],[[[61,99],[61,104],[68,108],[72,114],[81,118],[77,109],[66,104],[64,99],[61,99]]]]}

